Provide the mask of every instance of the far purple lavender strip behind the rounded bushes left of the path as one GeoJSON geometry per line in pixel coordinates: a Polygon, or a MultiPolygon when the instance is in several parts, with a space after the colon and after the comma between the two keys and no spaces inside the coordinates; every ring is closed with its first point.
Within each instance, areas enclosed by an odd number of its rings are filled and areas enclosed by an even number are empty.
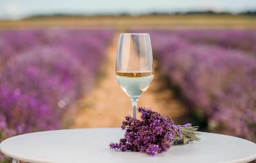
{"type": "MultiPolygon", "coordinates": [[[[0,63],[37,46],[54,46],[67,49],[84,64],[104,59],[105,47],[109,45],[113,30],[23,30],[0,32],[0,63]],[[94,54],[97,53],[97,57],[94,54]]],[[[91,65],[97,69],[97,64],[91,65]]]]}

